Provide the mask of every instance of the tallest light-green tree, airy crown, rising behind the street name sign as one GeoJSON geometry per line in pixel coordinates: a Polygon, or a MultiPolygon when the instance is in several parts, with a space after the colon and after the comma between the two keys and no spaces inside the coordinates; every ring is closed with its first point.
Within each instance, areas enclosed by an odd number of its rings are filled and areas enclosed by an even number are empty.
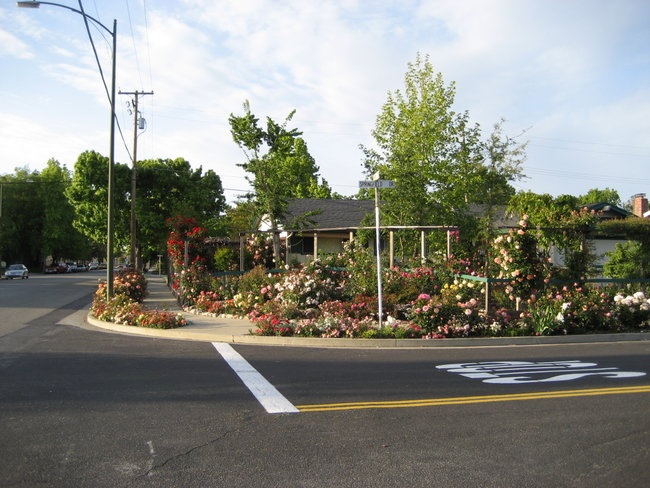
{"type": "MultiPolygon", "coordinates": [[[[376,148],[361,148],[367,174],[395,182],[381,194],[386,224],[458,224],[468,220],[469,204],[505,203],[514,193],[509,182],[521,175],[524,146],[505,138],[500,123],[482,140],[469,113],[453,110],[455,94],[419,54],[404,91],[388,94],[372,131],[376,148]]],[[[403,257],[417,253],[415,235],[398,242],[403,257]]]]}

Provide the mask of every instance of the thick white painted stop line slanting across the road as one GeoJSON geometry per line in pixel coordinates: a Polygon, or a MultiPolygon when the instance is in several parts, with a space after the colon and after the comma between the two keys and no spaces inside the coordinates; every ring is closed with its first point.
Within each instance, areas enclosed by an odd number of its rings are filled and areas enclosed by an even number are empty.
{"type": "Polygon", "coordinates": [[[299,410],[280,393],[275,386],[269,383],[241,354],[235,351],[230,344],[213,342],[217,350],[246,387],[251,391],[257,401],[268,413],[298,413],[299,410]]]}

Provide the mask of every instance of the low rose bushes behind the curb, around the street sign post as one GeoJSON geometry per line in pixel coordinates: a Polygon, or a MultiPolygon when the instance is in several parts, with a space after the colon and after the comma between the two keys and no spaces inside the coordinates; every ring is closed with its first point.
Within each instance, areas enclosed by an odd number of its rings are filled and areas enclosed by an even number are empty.
{"type": "MultiPolygon", "coordinates": [[[[521,336],[641,331],[650,324],[650,299],[612,286],[549,286],[525,310],[485,311],[479,282],[439,279],[434,268],[391,269],[378,327],[377,298],[352,292],[347,271],[322,263],[271,274],[262,268],[239,278],[215,279],[196,290],[196,313],[248,317],[258,335],[348,338],[521,336]],[[410,297],[408,296],[410,295],[410,297]]],[[[509,302],[506,285],[497,301],[509,302]]],[[[510,301],[511,302],[511,301],[510,301]]]]}

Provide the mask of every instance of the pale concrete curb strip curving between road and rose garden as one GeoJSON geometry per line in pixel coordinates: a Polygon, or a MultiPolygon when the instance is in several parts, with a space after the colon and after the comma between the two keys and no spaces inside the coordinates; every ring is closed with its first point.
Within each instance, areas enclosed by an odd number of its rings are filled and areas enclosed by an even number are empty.
{"type": "MultiPolygon", "coordinates": [[[[345,339],[345,338],[311,338],[311,337],[276,337],[255,336],[247,331],[232,333],[215,328],[148,329],[129,325],[113,324],[97,320],[88,314],[87,322],[97,328],[118,334],[128,334],[159,339],[173,339],[201,342],[228,342],[231,344],[249,344],[259,346],[291,346],[313,348],[350,348],[350,349],[384,349],[384,348],[466,348],[466,347],[507,347],[507,346],[548,346],[560,344],[593,344],[606,342],[638,342],[650,340],[648,333],[620,334],[584,334],[569,336],[523,336],[523,337],[478,337],[467,339],[345,339]]],[[[251,328],[253,326],[251,325],[251,328]]],[[[224,327],[227,329],[228,327],[224,327]]],[[[240,326],[241,328],[241,326],[240,326]]]]}

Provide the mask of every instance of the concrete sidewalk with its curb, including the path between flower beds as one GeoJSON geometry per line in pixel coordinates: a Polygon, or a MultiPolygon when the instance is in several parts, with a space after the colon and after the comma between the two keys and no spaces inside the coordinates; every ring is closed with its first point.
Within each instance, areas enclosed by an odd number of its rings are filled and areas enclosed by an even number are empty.
{"type": "Polygon", "coordinates": [[[178,329],[147,329],[102,322],[88,316],[90,325],[120,334],[201,342],[229,342],[295,347],[327,348],[430,348],[577,344],[595,342],[628,342],[650,340],[650,334],[597,334],[548,337],[494,337],[472,339],[335,339],[311,337],[265,337],[251,335],[255,325],[246,319],[211,317],[185,312],[165,283],[164,276],[146,275],[149,294],[144,304],[152,309],[182,313],[189,324],[178,329]]]}

